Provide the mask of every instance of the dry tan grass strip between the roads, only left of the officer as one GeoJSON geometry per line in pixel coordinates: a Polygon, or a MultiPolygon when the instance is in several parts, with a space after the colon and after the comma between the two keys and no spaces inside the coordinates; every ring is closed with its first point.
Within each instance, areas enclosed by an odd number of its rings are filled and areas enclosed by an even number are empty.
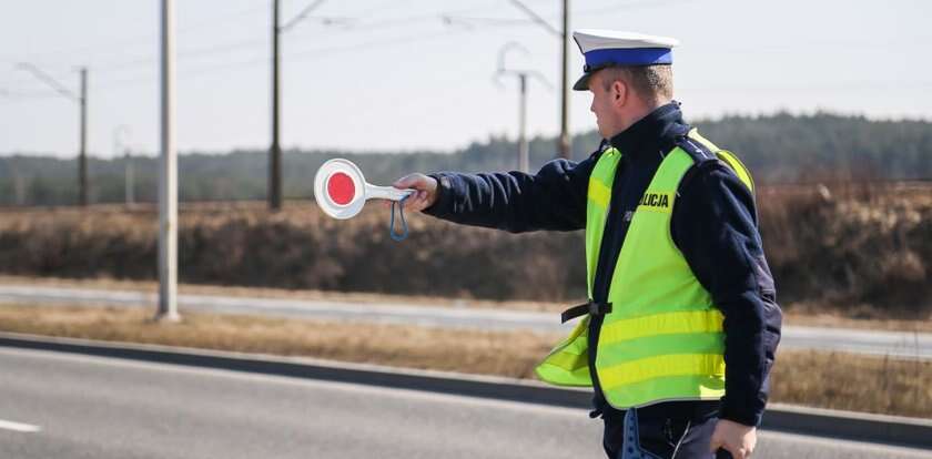
{"type": "Polygon", "coordinates": [[[188,313],[176,325],[150,310],[0,306],[0,330],[530,378],[557,336],[322,323],[188,313]]]}

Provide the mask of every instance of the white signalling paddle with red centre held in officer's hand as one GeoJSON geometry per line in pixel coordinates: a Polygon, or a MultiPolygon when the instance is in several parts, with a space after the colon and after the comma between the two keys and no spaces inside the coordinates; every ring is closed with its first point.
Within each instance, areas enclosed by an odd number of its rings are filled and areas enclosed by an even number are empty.
{"type": "Polygon", "coordinates": [[[325,214],[340,220],[352,218],[367,200],[401,201],[414,190],[376,186],[366,183],[363,172],[348,160],[324,163],[314,176],[314,197],[325,214]]]}

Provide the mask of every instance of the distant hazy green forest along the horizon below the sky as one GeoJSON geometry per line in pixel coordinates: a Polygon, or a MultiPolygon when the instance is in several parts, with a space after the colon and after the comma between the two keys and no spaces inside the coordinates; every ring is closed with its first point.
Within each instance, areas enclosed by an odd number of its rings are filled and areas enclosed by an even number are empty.
{"type": "MultiPolygon", "coordinates": [[[[932,123],[871,121],[862,116],[774,114],[727,116],[693,125],[720,147],[738,154],[760,183],[847,180],[926,180],[932,177],[932,123]]],[[[599,143],[596,131],[574,137],[574,159],[588,156],[599,143]]],[[[336,156],[348,157],[376,184],[389,184],[409,172],[502,171],[515,169],[514,140],[492,136],[454,153],[298,151],[284,154],[286,198],[313,195],[317,167],[336,156]]],[[[3,152],[0,157],[0,205],[68,205],[77,202],[77,162],[3,152]]],[[[530,164],[539,167],[556,156],[554,137],[530,141],[530,164]]],[[[182,152],[180,200],[262,200],[266,194],[266,151],[182,152]]],[[[132,160],[136,202],[158,195],[159,161],[132,160]]],[[[92,203],[124,200],[122,157],[88,164],[92,203]]]]}

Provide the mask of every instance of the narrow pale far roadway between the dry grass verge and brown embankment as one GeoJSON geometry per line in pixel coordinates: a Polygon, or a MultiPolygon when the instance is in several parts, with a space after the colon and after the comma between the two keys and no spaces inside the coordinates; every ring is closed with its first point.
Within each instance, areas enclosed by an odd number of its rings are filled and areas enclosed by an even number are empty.
{"type": "MultiPolygon", "coordinates": [[[[0,302],[23,304],[70,303],[153,307],[154,293],[88,288],[0,285],[0,302]]],[[[306,317],[331,320],[376,320],[427,326],[479,329],[533,329],[565,332],[556,313],[408,306],[379,303],[357,304],[307,299],[250,298],[212,295],[180,295],[181,309],[306,317]]],[[[932,359],[932,334],[875,332],[844,328],[784,327],[784,348],[812,348],[898,358],[932,359]]]]}

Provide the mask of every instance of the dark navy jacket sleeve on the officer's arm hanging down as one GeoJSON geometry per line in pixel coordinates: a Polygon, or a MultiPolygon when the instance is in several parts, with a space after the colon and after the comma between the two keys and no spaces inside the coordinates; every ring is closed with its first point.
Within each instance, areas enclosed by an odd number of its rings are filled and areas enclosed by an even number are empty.
{"type": "Polygon", "coordinates": [[[782,313],[752,193],[718,162],[698,167],[681,184],[672,237],[725,316],[726,387],[719,416],[759,426],[782,313]]]}

